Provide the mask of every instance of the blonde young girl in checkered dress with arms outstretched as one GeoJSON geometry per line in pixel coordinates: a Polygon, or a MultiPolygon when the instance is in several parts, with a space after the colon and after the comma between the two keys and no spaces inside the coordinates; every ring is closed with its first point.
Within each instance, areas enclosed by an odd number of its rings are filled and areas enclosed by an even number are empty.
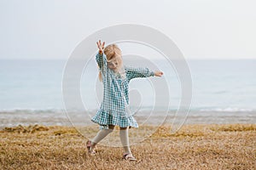
{"type": "Polygon", "coordinates": [[[90,154],[95,154],[96,144],[113,132],[115,126],[120,127],[119,136],[124,148],[125,160],[135,161],[132,156],[128,128],[138,127],[136,120],[131,116],[128,108],[128,83],[136,77],[161,77],[161,71],[149,71],[148,68],[131,68],[123,65],[121,50],[115,44],[110,44],[104,48],[105,42],[96,42],[99,53],[96,54],[96,62],[99,66],[99,77],[103,82],[103,101],[93,116],[91,121],[101,126],[101,130],[91,141],[87,141],[87,149],[90,154]]]}

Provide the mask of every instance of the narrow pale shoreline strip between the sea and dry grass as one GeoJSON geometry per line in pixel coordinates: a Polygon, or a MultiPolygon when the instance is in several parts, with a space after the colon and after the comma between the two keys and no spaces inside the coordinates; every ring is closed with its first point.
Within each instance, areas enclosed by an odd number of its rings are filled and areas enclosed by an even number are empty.
{"type": "MultiPolygon", "coordinates": [[[[90,122],[90,117],[94,113],[73,112],[72,115],[66,112],[0,112],[0,129],[3,127],[15,127],[19,124],[28,126],[30,124],[42,124],[44,126],[85,126],[94,125],[90,122]]],[[[256,123],[256,112],[214,112],[214,111],[190,111],[189,115],[180,114],[166,116],[166,113],[149,114],[147,111],[140,112],[134,117],[139,125],[152,124],[156,126],[171,125],[176,122],[184,124],[234,124],[234,123],[256,123]],[[165,123],[164,123],[165,122],[165,123]]]]}

